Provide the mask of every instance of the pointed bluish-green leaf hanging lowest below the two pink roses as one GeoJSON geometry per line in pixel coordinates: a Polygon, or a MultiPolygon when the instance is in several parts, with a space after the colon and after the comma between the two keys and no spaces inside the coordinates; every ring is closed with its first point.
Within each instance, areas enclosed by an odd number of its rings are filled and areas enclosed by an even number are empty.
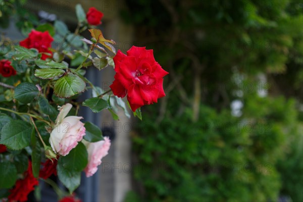
{"type": "Polygon", "coordinates": [[[58,178],[62,184],[68,188],[70,193],[72,193],[80,185],[81,172],[68,171],[63,167],[63,162],[59,162],[60,159],[57,165],[58,178]]]}

